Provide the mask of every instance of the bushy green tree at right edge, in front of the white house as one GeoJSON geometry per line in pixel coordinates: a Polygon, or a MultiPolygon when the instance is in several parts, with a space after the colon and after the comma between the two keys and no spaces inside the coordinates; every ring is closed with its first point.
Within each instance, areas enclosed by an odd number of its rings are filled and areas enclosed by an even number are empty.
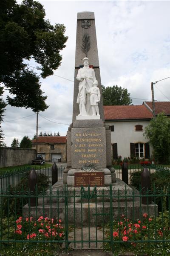
{"type": "Polygon", "coordinates": [[[159,114],[145,128],[144,136],[153,146],[153,157],[158,163],[170,163],[170,118],[159,114]]]}

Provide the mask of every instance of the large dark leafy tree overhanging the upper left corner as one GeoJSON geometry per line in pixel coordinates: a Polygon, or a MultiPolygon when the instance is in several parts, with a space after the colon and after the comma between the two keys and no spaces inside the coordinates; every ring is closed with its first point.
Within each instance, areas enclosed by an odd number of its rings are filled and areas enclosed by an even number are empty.
{"type": "MultiPolygon", "coordinates": [[[[68,37],[65,26],[45,20],[43,6],[34,0],[0,1],[0,83],[8,89],[11,106],[45,111],[40,78],[52,75],[62,61],[60,51],[68,37]],[[37,62],[40,75],[28,68],[29,60],[37,62]]],[[[0,96],[2,95],[0,91],[0,96]]],[[[1,108],[2,109],[2,108],[1,108]]]]}

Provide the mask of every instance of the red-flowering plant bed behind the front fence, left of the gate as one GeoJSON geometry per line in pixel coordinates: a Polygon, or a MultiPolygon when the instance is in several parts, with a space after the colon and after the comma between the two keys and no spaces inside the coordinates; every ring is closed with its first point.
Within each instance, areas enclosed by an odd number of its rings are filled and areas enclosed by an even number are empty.
{"type": "MultiPolygon", "coordinates": [[[[37,219],[33,217],[23,218],[20,216],[16,220],[13,216],[3,218],[1,221],[1,240],[50,240],[62,241],[65,237],[65,229],[62,227],[61,219],[54,219],[40,216],[37,219]]],[[[12,242],[2,242],[3,246],[11,246],[12,242]]],[[[62,243],[58,244],[58,247],[62,243]]],[[[23,244],[18,243],[18,246],[23,244]]],[[[35,242],[31,246],[36,245],[35,242]]],[[[43,245],[43,244],[42,244],[43,245]]],[[[30,243],[29,243],[30,246],[30,243]]],[[[39,245],[40,246],[40,245],[39,245]]]]}

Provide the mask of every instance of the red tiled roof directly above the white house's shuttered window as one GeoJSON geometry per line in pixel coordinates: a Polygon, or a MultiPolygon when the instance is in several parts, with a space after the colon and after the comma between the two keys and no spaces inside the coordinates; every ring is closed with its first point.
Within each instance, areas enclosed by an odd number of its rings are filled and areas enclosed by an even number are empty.
{"type": "Polygon", "coordinates": [[[153,114],[144,105],[104,106],[105,120],[151,119],[153,114]]]}

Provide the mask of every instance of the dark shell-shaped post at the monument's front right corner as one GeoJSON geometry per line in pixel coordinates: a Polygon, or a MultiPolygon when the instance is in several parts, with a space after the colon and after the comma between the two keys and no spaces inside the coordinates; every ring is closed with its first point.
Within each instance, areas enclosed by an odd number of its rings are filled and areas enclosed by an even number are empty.
{"type": "Polygon", "coordinates": [[[145,166],[141,174],[141,189],[142,204],[152,204],[152,198],[148,196],[150,192],[150,172],[145,166]]]}

